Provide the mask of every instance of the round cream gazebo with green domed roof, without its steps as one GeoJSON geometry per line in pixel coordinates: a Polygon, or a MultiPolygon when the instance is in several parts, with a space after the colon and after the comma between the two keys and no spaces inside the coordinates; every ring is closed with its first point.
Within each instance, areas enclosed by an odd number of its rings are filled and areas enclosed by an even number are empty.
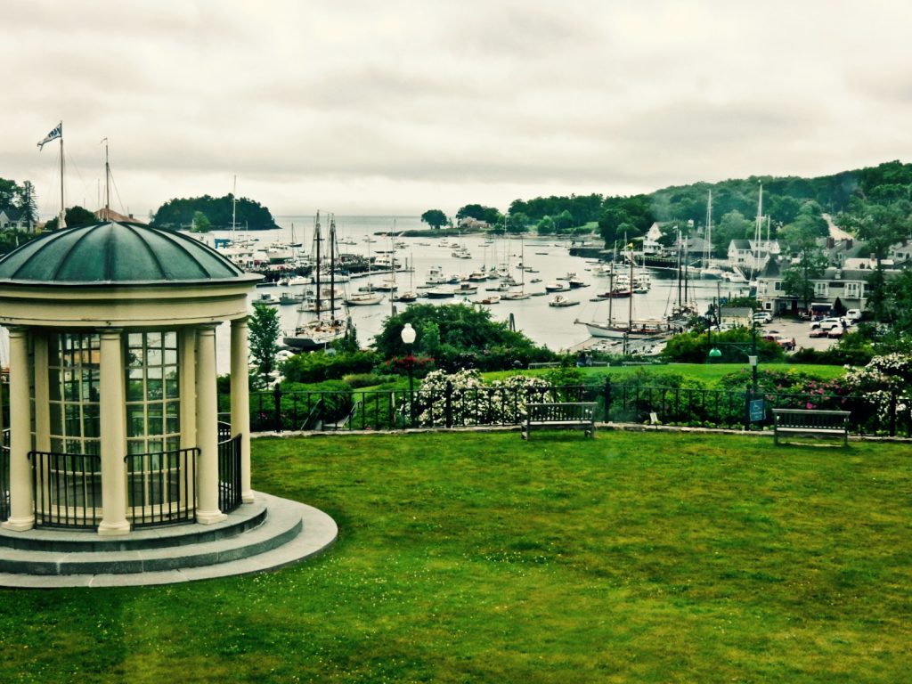
{"type": "Polygon", "coordinates": [[[190,236],[126,222],[47,233],[0,260],[2,527],[129,536],[252,503],[246,318],[259,278],[190,236]],[[224,322],[230,422],[216,396],[224,322]]]}

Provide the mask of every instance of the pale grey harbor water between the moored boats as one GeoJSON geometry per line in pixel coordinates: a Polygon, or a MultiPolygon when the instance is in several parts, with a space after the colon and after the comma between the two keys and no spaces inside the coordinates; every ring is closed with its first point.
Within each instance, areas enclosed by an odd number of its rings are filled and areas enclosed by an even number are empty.
{"type": "MultiPolygon", "coordinates": [[[[233,235],[227,231],[213,231],[204,236],[205,242],[214,244],[215,238],[245,237],[255,239],[254,250],[265,249],[270,244],[301,243],[300,248],[310,254],[314,233],[313,216],[278,216],[275,223],[280,228],[272,231],[256,231],[244,233],[237,231],[233,235]],[[293,240],[294,237],[294,240],[293,240]]],[[[323,237],[326,240],[328,222],[323,217],[323,237]]],[[[426,289],[427,275],[431,267],[440,267],[445,275],[455,275],[466,278],[473,271],[478,271],[482,266],[490,270],[497,266],[502,272],[508,271],[517,283],[523,283],[525,292],[533,295],[528,299],[514,301],[500,301],[497,304],[485,306],[490,309],[492,318],[507,322],[513,314],[516,329],[523,332],[536,344],[545,345],[554,351],[565,351],[586,343],[589,339],[586,326],[575,324],[575,320],[597,321],[605,323],[608,319],[609,303],[607,300],[590,301],[597,294],[609,289],[609,278],[593,275],[595,259],[586,259],[569,254],[571,242],[555,236],[539,237],[534,233],[523,236],[521,241],[517,237],[489,237],[481,233],[466,234],[461,237],[439,236],[422,237],[383,237],[378,233],[401,233],[409,230],[425,230],[427,224],[421,223],[418,217],[385,217],[385,216],[337,216],[338,251],[342,254],[359,254],[371,256],[394,251],[400,269],[409,268],[410,272],[400,270],[396,274],[396,283],[399,291],[415,290],[420,295],[426,289]],[[368,242],[368,239],[373,242],[368,242]],[[399,244],[399,246],[396,246],[399,244]],[[454,245],[464,246],[471,258],[457,258],[452,255],[454,245]],[[523,265],[525,269],[520,267],[523,265]],[[574,275],[578,280],[588,286],[565,291],[562,294],[568,300],[578,301],[575,306],[556,307],[548,306],[548,301],[553,295],[545,295],[545,285],[557,282],[566,284],[567,278],[574,275]],[[537,281],[537,282],[533,282],[537,281]]],[[[590,241],[590,246],[598,243],[590,241]]],[[[326,242],[323,249],[326,250],[326,242]]],[[[579,245],[577,242],[576,245],[579,245]]],[[[610,305],[612,318],[620,323],[626,323],[627,317],[637,318],[663,318],[670,313],[679,297],[678,276],[674,272],[649,270],[651,287],[648,293],[635,294],[627,299],[615,299],[610,305]],[[631,310],[632,304],[632,310],[631,310]]],[[[373,274],[370,280],[374,285],[389,279],[389,273],[373,274]]],[[[368,277],[360,276],[350,282],[337,285],[345,288],[347,294],[358,291],[358,287],[368,285],[368,277]]],[[[429,304],[473,304],[482,299],[487,288],[497,285],[496,281],[483,281],[476,283],[478,292],[469,295],[456,295],[443,299],[427,299],[420,297],[419,303],[429,304]]],[[[251,297],[251,311],[253,299],[268,292],[275,298],[282,292],[300,294],[308,285],[259,287],[251,297]]],[[[312,287],[312,285],[310,285],[312,287]]],[[[454,288],[456,285],[444,285],[454,288]]],[[[515,288],[515,289],[518,289],[515,288]]],[[[688,287],[688,301],[695,304],[702,313],[706,311],[713,299],[742,294],[744,286],[720,283],[713,280],[690,280],[688,287]]],[[[358,343],[362,347],[371,345],[373,338],[380,332],[383,322],[390,316],[393,307],[401,312],[403,303],[390,301],[389,293],[384,300],[373,306],[352,306],[350,315],[358,331],[358,343]]],[[[475,306],[484,306],[476,304],[475,306]]],[[[282,324],[283,332],[291,332],[295,326],[312,314],[300,313],[296,305],[276,307],[282,324]]],[[[218,331],[218,367],[220,373],[228,372],[229,368],[229,330],[228,326],[219,326],[218,331]]],[[[603,344],[606,344],[605,341],[603,344]]]]}

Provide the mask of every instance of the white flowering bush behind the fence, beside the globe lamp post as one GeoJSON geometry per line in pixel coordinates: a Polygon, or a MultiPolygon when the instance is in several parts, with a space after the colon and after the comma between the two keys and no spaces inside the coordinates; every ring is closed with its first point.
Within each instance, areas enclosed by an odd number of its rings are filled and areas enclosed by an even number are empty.
{"type": "Polygon", "coordinates": [[[474,369],[463,368],[457,373],[435,370],[421,382],[417,399],[419,425],[440,425],[445,420],[447,382],[452,385],[453,425],[518,423],[530,398],[554,401],[551,385],[541,378],[515,375],[486,385],[481,373],[474,369]]]}

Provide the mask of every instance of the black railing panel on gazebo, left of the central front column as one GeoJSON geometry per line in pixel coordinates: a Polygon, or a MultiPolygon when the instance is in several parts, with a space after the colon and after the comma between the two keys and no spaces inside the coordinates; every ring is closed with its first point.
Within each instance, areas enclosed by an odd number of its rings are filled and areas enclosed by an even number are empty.
{"type": "Polygon", "coordinates": [[[94,528],[101,517],[101,457],[29,451],[36,527],[94,528]]]}

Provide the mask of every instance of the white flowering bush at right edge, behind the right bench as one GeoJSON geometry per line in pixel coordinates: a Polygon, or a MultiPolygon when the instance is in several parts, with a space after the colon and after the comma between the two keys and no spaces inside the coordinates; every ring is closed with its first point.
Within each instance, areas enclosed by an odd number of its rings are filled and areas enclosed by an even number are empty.
{"type": "Polygon", "coordinates": [[[896,419],[909,420],[912,407],[912,356],[887,354],[872,358],[862,368],[846,367],[845,387],[863,396],[876,412],[877,420],[890,419],[890,407],[896,397],[896,419]]]}

